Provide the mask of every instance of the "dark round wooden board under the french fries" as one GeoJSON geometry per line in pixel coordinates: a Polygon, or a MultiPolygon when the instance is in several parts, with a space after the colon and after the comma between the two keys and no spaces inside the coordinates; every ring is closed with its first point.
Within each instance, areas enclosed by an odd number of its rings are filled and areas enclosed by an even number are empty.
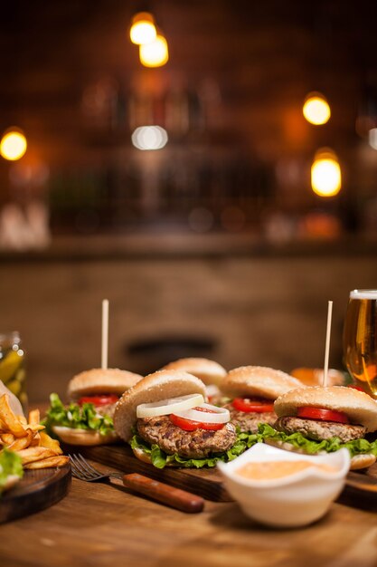
{"type": "Polygon", "coordinates": [[[70,464],[25,470],[20,482],[0,496],[0,524],[56,504],[67,494],[70,485],[70,464]]]}

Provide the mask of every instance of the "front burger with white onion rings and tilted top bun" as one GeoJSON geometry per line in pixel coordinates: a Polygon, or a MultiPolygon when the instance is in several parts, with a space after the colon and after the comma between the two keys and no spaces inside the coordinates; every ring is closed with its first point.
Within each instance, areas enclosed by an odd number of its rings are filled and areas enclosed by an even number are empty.
{"type": "Polygon", "coordinates": [[[230,461],[246,448],[230,413],[205,403],[202,380],[183,370],[159,370],[127,390],[114,428],[135,456],[158,468],[201,468],[230,461]]]}

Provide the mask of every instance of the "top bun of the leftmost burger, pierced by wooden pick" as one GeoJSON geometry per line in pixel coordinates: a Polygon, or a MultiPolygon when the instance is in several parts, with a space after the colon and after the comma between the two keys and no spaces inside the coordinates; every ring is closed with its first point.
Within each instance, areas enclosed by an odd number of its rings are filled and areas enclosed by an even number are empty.
{"type": "Polygon", "coordinates": [[[85,370],[76,374],[68,384],[70,399],[78,399],[90,394],[118,394],[135,386],[143,377],[128,370],[118,368],[85,370]]]}

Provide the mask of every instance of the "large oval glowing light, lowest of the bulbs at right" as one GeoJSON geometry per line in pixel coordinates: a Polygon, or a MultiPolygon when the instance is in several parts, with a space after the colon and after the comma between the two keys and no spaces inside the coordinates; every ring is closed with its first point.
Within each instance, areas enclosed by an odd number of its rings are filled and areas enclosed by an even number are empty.
{"type": "Polygon", "coordinates": [[[334,197],[342,187],[342,172],[334,151],[321,149],[311,168],[312,189],[320,197],[334,197]]]}

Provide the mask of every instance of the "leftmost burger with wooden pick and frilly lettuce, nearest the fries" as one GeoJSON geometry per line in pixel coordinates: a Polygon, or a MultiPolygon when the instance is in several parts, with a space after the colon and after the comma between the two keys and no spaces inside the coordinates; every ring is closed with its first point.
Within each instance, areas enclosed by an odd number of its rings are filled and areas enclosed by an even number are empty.
{"type": "Polygon", "coordinates": [[[113,414],[120,396],[143,377],[128,370],[93,369],[80,372],[68,385],[68,405],[50,396],[43,425],[70,445],[103,445],[118,439],[113,414]]]}

